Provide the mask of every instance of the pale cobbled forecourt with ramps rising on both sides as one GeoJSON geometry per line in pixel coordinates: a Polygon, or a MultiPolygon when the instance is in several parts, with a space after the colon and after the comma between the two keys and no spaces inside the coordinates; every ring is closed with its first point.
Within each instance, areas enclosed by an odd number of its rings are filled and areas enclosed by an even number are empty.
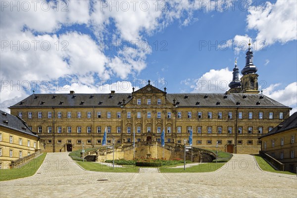
{"type": "Polygon", "coordinates": [[[85,171],[60,152],[48,153],[32,177],[0,182],[0,198],[23,197],[296,198],[297,177],[262,171],[247,154],[234,154],[225,166],[209,173],[104,173],[85,171]]]}

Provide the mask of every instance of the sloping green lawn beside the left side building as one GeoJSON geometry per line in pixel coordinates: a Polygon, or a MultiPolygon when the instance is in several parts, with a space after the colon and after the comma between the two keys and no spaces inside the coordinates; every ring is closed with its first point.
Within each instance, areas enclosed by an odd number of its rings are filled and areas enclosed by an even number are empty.
{"type": "Polygon", "coordinates": [[[0,170],[0,181],[24,178],[34,175],[43,163],[46,155],[47,153],[43,153],[39,157],[32,159],[29,163],[20,168],[0,170]]]}

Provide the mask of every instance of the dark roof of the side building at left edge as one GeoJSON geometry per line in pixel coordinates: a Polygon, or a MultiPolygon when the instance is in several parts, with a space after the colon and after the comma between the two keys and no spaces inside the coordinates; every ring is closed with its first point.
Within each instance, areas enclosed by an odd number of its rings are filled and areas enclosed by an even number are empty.
{"type": "Polygon", "coordinates": [[[1,113],[0,114],[1,127],[12,129],[30,136],[38,137],[29,129],[29,127],[27,126],[27,123],[23,119],[1,110],[0,110],[0,113],[1,113]]]}

